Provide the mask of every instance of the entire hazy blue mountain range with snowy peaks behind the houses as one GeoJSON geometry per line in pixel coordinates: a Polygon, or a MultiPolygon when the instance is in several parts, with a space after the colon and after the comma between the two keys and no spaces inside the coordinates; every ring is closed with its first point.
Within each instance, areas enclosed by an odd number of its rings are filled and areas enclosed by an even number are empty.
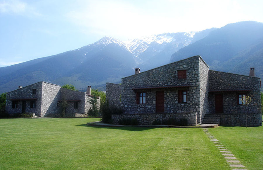
{"type": "Polygon", "coordinates": [[[201,55],[210,69],[248,75],[256,67],[263,77],[263,24],[228,24],[200,32],[163,33],[122,42],[104,37],[82,48],[0,68],[0,93],[38,81],[103,89],[134,74],[170,61],[201,55]],[[172,57],[171,57],[172,55],[172,57]],[[248,72],[248,73],[247,73],[248,72]]]}

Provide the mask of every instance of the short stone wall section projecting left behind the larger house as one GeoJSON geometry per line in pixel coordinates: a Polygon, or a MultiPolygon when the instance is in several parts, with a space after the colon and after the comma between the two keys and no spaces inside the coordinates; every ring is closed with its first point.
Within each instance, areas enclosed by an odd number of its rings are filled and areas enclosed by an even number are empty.
{"type": "Polygon", "coordinates": [[[122,85],[106,83],[106,99],[110,106],[121,106],[122,85]]]}

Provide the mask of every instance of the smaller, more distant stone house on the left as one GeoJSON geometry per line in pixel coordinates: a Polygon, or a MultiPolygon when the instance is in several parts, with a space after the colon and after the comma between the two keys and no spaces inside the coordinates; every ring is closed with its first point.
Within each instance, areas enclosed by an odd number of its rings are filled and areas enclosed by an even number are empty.
{"type": "MultiPolygon", "coordinates": [[[[23,87],[6,94],[6,111],[9,114],[33,113],[38,117],[60,116],[60,103],[67,102],[65,116],[83,117],[91,108],[89,100],[91,86],[88,86],[87,93],[61,88],[56,84],[44,81],[23,87]]],[[[100,98],[97,100],[100,104],[100,98]]],[[[98,106],[99,107],[99,106],[98,106]]]]}

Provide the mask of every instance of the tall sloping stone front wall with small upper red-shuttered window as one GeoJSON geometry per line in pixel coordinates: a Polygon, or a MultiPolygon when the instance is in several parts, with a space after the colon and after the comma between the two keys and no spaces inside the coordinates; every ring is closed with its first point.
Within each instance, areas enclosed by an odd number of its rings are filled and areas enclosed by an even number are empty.
{"type": "Polygon", "coordinates": [[[199,58],[190,57],[185,60],[167,64],[162,67],[141,72],[122,79],[122,107],[125,113],[155,113],[155,95],[157,90],[164,90],[165,113],[190,113],[200,114],[200,85],[199,85],[199,58]],[[186,70],[187,78],[178,79],[177,70],[186,70]],[[136,91],[140,87],[162,86],[189,86],[168,89],[144,89],[146,104],[136,104],[136,91]],[[187,102],[178,103],[178,90],[187,90],[187,102]]]}

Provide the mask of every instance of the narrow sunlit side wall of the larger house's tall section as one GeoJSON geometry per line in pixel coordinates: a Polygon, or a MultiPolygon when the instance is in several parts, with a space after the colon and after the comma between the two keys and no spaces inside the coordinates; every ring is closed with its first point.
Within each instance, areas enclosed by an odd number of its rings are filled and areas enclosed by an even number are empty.
{"type": "Polygon", "coordinates": [[[197,115],[197,122],[201,123],[205,114],[209,113],[209,67],[200,57],[199,59],[200,72],[200,115],[197,115]]]}

